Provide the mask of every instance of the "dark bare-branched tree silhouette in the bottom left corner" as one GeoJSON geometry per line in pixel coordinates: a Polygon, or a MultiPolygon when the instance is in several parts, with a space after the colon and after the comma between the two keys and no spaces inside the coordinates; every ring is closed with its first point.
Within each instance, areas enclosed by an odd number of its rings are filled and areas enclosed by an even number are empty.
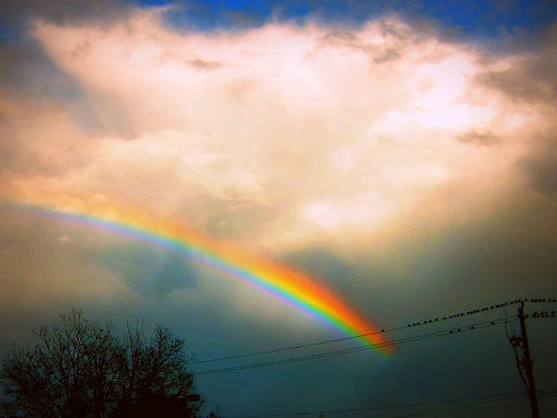
{"type": "Polygon", "coordinates": [[[32,333],[36,346],[13,346],[1,362],[4,414],[32,417],[196,417],[182,339],[163,325],[116,327],[88,321],[80,309],[60,314],[53,326],[32,333]]]}

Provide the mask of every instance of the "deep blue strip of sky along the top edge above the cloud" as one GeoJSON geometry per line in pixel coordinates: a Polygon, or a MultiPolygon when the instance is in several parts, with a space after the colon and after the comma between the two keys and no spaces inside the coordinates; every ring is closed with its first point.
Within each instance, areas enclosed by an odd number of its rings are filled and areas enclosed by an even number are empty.
{"type": "Polygon", "coordinates": [[[470,36],[537,32],[557,18],[557,3],[532,0],[130,0],[140,6],[176,7],[167,15],[177,29],[246,29],[269,20],[318,20],[361,25],[386,13],[434,20],[441,29],[470,36]]]}

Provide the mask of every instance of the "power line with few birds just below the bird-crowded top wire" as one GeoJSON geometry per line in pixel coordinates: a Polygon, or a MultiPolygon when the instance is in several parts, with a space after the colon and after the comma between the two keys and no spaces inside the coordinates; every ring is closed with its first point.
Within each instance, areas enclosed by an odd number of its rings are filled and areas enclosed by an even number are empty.
{"type": "MultiPolygon", "coordinates": [[[[464,325],[464,326],[449,328],[449,329],[445,329],[445,330],[438,330],[438,331],[427,332],[427,333],[419,334],[419,335],[412,335],[410,337],[403,337],[403,338],[399,338],[399,339],[394,339],[394,340],[391,340],[389,342],[384,342],[384,343],[381,343],[381,344],[377,344],[375,347],[382,348],[382,347],[387,347],[387,346],[408,344],[410,342],[424,341],[424,340],[427,340],[427,339],[442,337],[443,335],[452,335],[452,334],[458,334],[458,333],[462,333],[462,332],[470,332],[470,331],[473,331],[473,330],[480,330],[482,328],[487,328],[487,327],[490,327],[490,326],[493,326],[493,325],[502,325],[502,324],[513,322],[513,321],[516,321],[516,319],[515,318],[512,318],[512,319],[498,318],[498,319],[495,319],[495,320],[484,321],[484,322],[481,322],[481,323],[474,323],[474,324],[470,324],[470,325],[464,325]]],[[[227,368],[201,370],[201,371],[196,372],[196,376],[213,375],[213,374],[227,373],[227,372],[239,372],[241,370],[264,368],[264,367],[275,366],[275,365],[283,365],[283,364],[288,364],[288,363],[298,363],[300,361],[314,360],[314,359],[317,359],[317,358],[326,358],[326,357],[332,357],[332,356],[341,356],[341,355],[344,355],[344,354],[356,353],[358,351],[367,351],[367,350],[369,350],[369,348],[367,346],[349,347],[349,348],[338,349],[338,350],[334,350],[334,351],[325,351],[325,352],[308,354],[306,356],[282,358],[282,359],[278,359],[278,360],[269,360],[269,361],[264,361],[264,362],[260,362],[260,363],[249,363],[249,364],[245,364],[245,365],[237,365],[237,366],[231,366],[231,367],[227,367],[227,368]]]]}

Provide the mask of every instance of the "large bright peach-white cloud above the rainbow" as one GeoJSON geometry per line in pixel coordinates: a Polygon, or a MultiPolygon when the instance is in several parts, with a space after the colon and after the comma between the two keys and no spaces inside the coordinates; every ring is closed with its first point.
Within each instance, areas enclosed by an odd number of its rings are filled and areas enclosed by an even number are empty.
{"type": "Polygon", "coordinates": [[[79,133],[79,168],[15,179],[20,189],[149,205],[219,234],[235,225],[233,238],[267,250],[368,237],[453,182],[482,184],[476,203],[489,200],[544,118],[477,81],[516,58],[485,60],[396,18],[209,34],[143,11],[111,27],[37,21],[33,34],[110,115],[98,120],[127,133],[79,133]]]}

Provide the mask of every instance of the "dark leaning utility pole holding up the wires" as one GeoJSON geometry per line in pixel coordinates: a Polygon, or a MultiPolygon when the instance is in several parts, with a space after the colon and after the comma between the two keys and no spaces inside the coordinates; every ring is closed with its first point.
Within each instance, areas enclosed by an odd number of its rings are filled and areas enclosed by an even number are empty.
{"type": "Polygon", "coordinates": [[[530,346],[528,346],[528,335],[526,335],[526,323],[524,319],[524,302],[522,301],[521,306],[518,306],[518,321],[521,324],[521,335],[510,337],[509,341],[511,342],[511,346],[513,346],[516,354],[516,366],[518,367],[518,372],[520,373],[524,386],[526,386],[526,390],[528,391],[532,418],[539,418],[534,371],[532,370],[532,357],[530,356],[530,346]],[[523,370],[526,374],[526,378],[524,378],[523,370]]]}

